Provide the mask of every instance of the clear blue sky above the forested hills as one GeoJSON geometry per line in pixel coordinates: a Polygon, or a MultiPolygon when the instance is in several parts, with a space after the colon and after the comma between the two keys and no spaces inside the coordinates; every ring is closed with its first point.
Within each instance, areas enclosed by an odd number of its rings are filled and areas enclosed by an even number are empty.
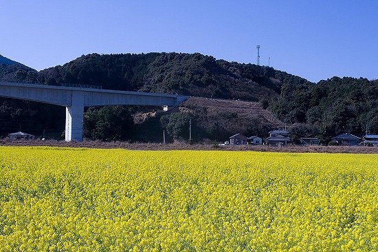
{"type": "Polygon", "coordinates": [[[82,54],[199,52],[318,82],[378,78],[378,1],[0,0],[0,54],[36,70],[82,54]],[[269,60],[270,58],[270,60],[269,60]]]}

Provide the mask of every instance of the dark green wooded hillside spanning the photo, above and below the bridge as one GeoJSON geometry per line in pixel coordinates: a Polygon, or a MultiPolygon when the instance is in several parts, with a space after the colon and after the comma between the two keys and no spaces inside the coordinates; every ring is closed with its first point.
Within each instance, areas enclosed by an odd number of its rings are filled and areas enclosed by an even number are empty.
{"type": "MultiPolygon", "coordinates": [[[[286,124],[293,136],[318,136],[321,143],[328,143],[335,134],[346,132],[363,136],[367,129],[370,134],[378,134],[378,81],[376,80],[333,77],[319,83],[310,83],[300,76],[274,70],[272,67],[216,60],[212,56],[199,53],[88,54],[65,65],[50,67],[40,72],[21,65],[1,64],[0,79],[38,82],[46,85],[76,83],[99,85],[111,90],[255,101],[262,109],[268,109],[280,120],[282,125],[276,127],[283,128],[286,124]]],[[[52,131],[62,130],[51,123],[47,126],[43,122],[45,114],[49,113],[63,116],[64,121],[64,110],[62,112],[61,108],[51,105],[31,106],[30,102],[10,101],[5,98],[1,98],[0,102],[1,135],[8,134],[9,132],[6,131],[16,129],[20,125],[25,131],[25,125],[30,125],[27,127],[30,132],[33,130],[41,132],[45,127],[49,127],[52,131]],[[42,116],[39,106],[45,109],[45,114],[42,116]],[[30,123],[26,123],[25,114],[32,116],[27,119],[30,123]],[[42,125],[33,123],[34,120],[42,122],[39,123],[42,125]]],[[[185,103],[183,106],[186,106],[185,103]]],[[[203,116],[206,113],[201,114],[201,104],[198,102],[195,109],[193,104],[187,106],[186,109],[181,109],[181,112],[171,112],[172,114],[163,118],[157,113],[157,116],[147,118],[146,122],[155,120],[153,124],[159,124],[160,129],[166,125],[181,123],[181,127],[187,129],[184,122],[190,116],[194,127],[199,127],[196,140],[203,138],[224,140],[227,134],[236,129],[239,131],[235,133],[263,134],[274,126],[269,125],[266,118],[255,118],[250,122],[241,123],[241,120],[234,120],[230,114],[228,116],[219,114],[218,117],[214,117],[214,114],[203,116]],[[227,127],[220,127],[219,125],[225,120],[227,127]],[[208,121],[212,121],[213,125],[207,123],[208,121]]],[[[158,110],[158,108],[152,109],[158,110]]],[[[205,109],[205,105],[202,109],[205,109]]],[[[101,132],[109,132],[109,129],[101,128],[100,123],[96,125],[104,114],[112,114],[113,118],[126,115],[129,119],[125,119],[125,122],[130,122],[131,117],[143,112],[148,112],[148,109],[122,106],[111,109],[91,108],[85,116],[87,120],[85,137],[154,141],[153,138],[146,136],[153,126],[146,126],[148,123],[141,121],[127,129],[130,134],[113,133],[113,136],[102,134],[101,132]]],[[[222,109],[219,108],[219,113],[221,112],[222,109]]],[[[251,110],[250,113],[254,114],[254,111],[251,110]]],[[[241,117],[240,114],[238,116],[241,117]]],[[[57,118],[57,121],[61,120],[57,118]]],[[[122,127],[118,129],[122,130],[122,127]]],[[[177,130],[175,134],[176,138],[184,138],[177,133],[177,130]]],[[[296,141],[298,138],[294,137],[293,140],[296,141]]]]}

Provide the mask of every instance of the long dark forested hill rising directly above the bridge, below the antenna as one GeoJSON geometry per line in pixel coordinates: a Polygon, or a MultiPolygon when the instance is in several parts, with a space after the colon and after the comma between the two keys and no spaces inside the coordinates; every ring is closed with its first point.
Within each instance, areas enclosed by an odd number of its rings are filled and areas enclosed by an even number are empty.
{"type": "Polygon", "coordinates": [[[104,89],[162,92],[259,101],[303,78],[252,64],[230,63],[199,53],[89,54],[38,74],[48,85],[79,83],[104,89]]]}

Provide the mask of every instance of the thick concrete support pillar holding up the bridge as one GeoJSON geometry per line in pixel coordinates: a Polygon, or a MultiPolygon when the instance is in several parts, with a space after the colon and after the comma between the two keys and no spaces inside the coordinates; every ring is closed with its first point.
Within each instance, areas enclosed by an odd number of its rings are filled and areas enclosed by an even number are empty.
{"type": "Polygon", "coordinates": [[[65,111],[65,140],[82,142],[84,92],[72,92],[71,106],[66,107],[65,111]]]}

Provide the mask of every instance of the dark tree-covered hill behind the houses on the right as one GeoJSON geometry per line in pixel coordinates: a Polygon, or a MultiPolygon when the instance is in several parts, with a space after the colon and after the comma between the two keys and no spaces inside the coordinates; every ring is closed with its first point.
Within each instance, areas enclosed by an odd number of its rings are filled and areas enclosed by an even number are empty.
{"type": "Polygon", "coordinates": [[[337,76],[312,85],[283,85],[269,110],[285,123],[315,127],[322,143],[336,134],[378,134],[378,81],[337,76]]]}

